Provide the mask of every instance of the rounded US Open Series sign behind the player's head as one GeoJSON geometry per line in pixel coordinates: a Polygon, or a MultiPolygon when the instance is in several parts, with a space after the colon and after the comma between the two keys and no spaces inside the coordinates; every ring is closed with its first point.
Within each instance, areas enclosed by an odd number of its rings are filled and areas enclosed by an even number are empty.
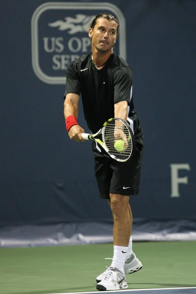
{"type": "Polygon", "coordinates": [[[91,51],[89,24],[102,11],[118,19],[120,35],[116,51],[126,59],[125,19],[116,5],[47,2],[35,10],[31,20],[32,65],[38,78],[49,84],[65,84],[68,64],[91,51]]]}

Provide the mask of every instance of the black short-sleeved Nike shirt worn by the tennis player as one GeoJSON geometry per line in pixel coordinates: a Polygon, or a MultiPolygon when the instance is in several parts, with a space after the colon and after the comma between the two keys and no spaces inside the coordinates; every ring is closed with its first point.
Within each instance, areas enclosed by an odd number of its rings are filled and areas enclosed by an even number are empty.
{"type": "Polygon", "coordinates": [[[92,133],[114,117],[115,103],[127,101],[127,122],[135,133],[140,126],[133,111],[132,70],[116,53],[112,53],[104,67],[98,70],[91,56],[92,53],[68,65],[64,98],[69,93],[81,94],[84,117],[92,133]]]}

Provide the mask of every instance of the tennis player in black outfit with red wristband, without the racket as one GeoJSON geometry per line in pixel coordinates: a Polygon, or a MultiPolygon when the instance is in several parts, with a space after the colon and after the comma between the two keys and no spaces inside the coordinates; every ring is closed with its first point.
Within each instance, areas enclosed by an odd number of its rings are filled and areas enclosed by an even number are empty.
{"type": "Polygon", "coordinates": [[[134,111],[132,70],[114,51],[119,33],[118,20],[101,13],[89,29],[92,52],[76,59],[66,71],[64,116],[70,139],[84,142],[84,129],[77,122],[81,94],[84,116],[92,133],[98,132],[109,118],[129,123],[136,142],[134,157],[127,162],[112,159],[93,142],[95,175],[100,197],[107,199],[114,220],[114,253],[110,267],[97,277],[97,289],[126,289],[125,274],[142,268],[132,251],[132,213],[129,196],[139,194],[143,155],[143,130],[134,111]]]}

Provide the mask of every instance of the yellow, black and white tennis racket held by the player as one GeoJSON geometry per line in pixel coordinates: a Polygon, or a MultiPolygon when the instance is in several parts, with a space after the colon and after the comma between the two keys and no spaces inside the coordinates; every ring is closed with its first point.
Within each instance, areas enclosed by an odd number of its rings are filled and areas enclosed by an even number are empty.
{"type": "Polygon", "coordinates": [[[97,142],[117,161],[125,162],[134,154],[134,135],[129,124],[123,119],[109,119],[96,134],[82,133],[81,135],[84,140],[97,142]]]}

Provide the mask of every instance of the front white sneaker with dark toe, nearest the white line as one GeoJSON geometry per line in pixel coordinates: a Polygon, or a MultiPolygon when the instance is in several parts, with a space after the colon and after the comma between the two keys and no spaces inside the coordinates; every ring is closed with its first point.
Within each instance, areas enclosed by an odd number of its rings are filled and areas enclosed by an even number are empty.
{"type": "Polygon", "coordinates": [[[104,279],[97,284],[96,288],[101,291],[127,289],[125,273],[117,268],[109,267],[104,279]]]}

